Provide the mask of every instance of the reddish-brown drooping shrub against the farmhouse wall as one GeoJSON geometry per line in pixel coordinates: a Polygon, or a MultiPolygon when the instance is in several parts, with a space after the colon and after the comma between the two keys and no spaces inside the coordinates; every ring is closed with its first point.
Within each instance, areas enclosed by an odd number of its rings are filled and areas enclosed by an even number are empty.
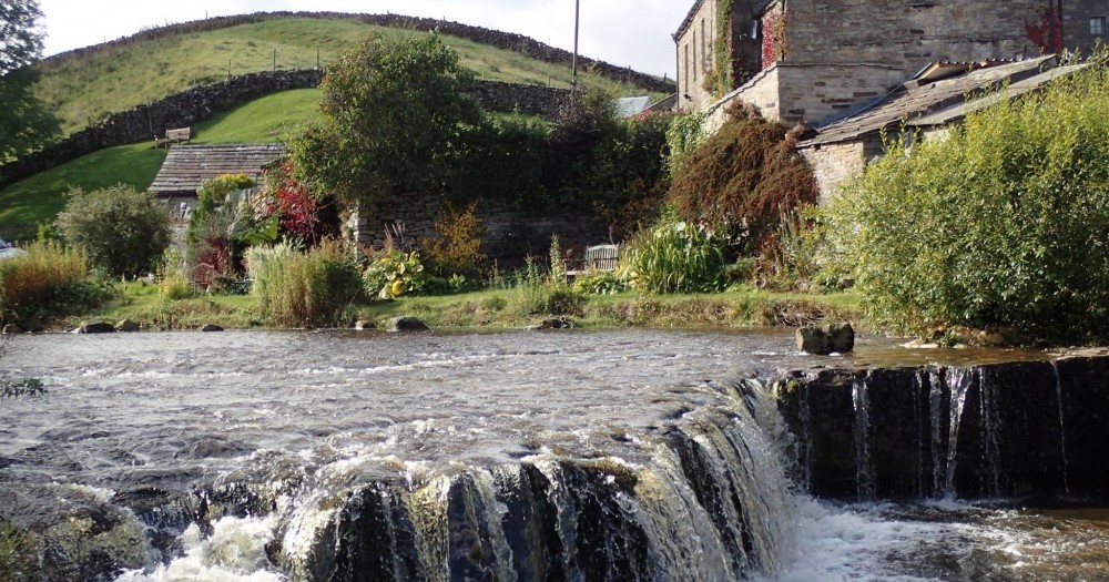
{"type": "Polygon", "coordinates": [[[818,197],[812,169],[796,152],[800,129],[733,108],[730,120],[675,169],[670,201],[688,222],[739,228],[752,251],[780,217],[818,197]]]}

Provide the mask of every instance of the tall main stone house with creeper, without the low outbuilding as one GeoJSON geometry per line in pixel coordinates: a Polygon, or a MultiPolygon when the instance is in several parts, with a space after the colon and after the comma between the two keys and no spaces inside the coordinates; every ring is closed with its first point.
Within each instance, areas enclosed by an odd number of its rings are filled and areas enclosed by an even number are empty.
{"type": "Polygon", "coordinates": [[[739,99],[820,125],[929,63],[1088,53],[1106,17],[1103,0],[698,0],[673,37],[679,109],[739,99]]]}

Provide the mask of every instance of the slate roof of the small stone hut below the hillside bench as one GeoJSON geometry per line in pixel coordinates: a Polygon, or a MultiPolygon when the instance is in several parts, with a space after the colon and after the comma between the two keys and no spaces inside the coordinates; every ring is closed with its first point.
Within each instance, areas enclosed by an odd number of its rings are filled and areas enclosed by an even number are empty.
{"type": "Polygon", "coordinates": [[[284,152],[279,143],[174,145],[150,188],[159,196],[193,196],[205,180],[224,174],[246,174],[257,180],[262,170],[284,152]]]}

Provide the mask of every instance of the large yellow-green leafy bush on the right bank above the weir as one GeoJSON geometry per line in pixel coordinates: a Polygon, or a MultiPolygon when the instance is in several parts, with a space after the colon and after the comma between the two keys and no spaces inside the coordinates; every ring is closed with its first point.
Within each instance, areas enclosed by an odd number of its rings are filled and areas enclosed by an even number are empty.
{"type": "Polygon", "coordinates": [[[1098,340],[1109,316],[1109,71],[968,114],[946,140],[887,144],[827,229],[875,321],[1098,340]]]}

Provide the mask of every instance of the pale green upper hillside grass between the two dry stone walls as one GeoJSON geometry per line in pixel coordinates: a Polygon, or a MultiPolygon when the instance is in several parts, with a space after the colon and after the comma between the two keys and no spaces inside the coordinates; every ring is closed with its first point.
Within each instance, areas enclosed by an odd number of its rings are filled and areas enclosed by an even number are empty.
{"type": "MultiPolygon", "coordinates": [[[[65,134],[102,121],[109,114],[155,101],[195,84],[228,74],[327,65],[359,39],[372,33],[421,34],[410,30],[364,24],[349,19],[273,18],[236,27],[190,32],[133,42],[111,43],[64,53],[40,63],[39,94],[63,120],[65,134]]],[[[444,37],[465,67],[479,78],[568,86],[570,70],[487,44],[444,37]]],[[[613,95],[643,94],[633,85],[583,71],[580,82],[613,95]]],[[[661,96],[661,95],[659,95],[661,96]]]]}

